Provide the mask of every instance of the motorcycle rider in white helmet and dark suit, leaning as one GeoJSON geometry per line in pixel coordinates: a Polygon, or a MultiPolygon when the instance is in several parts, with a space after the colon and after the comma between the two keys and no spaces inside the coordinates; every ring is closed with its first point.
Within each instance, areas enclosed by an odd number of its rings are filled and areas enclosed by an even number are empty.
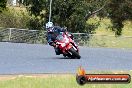
{"type": "MultiPolygon", "coordinates": [[[[47,30],[47,41],[49,45],[53,46],[55,49],[56,55],[60,55],[61,52],[59,48],[56,47],[56,44],[54,41],[56,40],[56,37],[61,33],[65,32],[69,37],[73,39],[73,35],[67,32],[65,28],[61,28],[60,26],[54,26],[52,22],[46,23],[46,30],[47,30]]],[[[77,45],[76,45],[77,46],[77,45]]]]}

